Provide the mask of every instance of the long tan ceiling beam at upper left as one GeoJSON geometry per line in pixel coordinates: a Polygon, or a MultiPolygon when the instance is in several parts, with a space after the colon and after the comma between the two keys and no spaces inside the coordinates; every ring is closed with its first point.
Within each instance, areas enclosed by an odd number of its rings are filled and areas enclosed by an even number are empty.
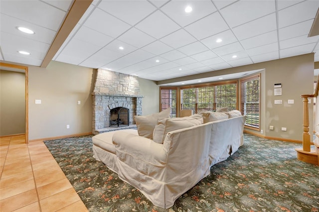
{"type": "Polygon", "coordinates": [[[74,0],[70,8],[70,11],[66,15],[61,28],[57,32],[48,52],[46,53],[42,61],[42,64],[41,64],[42,68],[46,68],[47,65],[50,63],[54,55],[62,46],[65,39],[71,33],[72,29],[79,22],[84,12],[91,5],[92,1],[93,0],[74,0]]]}

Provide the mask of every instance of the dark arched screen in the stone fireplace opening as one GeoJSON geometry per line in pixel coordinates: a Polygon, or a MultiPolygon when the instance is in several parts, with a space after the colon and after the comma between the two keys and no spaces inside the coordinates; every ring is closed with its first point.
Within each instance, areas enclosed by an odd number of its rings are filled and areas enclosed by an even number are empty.
{"type": "Polygon", "coordinates": [[[110,127],[129,126],[130,109],[126,107],[115,107],[110,111],[110,127]]]}

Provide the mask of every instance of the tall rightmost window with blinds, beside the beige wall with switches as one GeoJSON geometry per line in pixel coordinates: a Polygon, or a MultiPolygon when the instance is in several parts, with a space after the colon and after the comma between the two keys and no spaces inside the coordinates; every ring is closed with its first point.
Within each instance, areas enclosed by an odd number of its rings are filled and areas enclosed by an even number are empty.
{"type": "Polygon", "coordinates": [[[260,123],[260,75],[240,81],[241,112],[246,115],[245,126],[259,130],[260,123]]]}

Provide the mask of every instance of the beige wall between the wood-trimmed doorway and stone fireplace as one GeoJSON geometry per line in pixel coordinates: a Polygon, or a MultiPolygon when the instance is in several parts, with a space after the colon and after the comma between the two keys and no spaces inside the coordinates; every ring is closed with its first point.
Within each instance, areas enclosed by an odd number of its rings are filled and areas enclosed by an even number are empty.
{"type": "Polygon", "coordinates": [[[29,139],[91,132],[95,74],[90,68],[55,61],[45,69],[29,67],[29,139]]]}

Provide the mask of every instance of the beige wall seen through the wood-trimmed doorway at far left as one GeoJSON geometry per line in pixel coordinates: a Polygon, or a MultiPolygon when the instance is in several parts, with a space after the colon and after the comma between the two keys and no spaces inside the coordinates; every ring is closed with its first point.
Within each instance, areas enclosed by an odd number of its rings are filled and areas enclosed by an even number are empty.
{"type": "Polygon", "coordinates": [[[0,136],[25,133],[25,74],[0,70],[0,136]]]}

